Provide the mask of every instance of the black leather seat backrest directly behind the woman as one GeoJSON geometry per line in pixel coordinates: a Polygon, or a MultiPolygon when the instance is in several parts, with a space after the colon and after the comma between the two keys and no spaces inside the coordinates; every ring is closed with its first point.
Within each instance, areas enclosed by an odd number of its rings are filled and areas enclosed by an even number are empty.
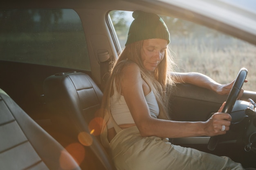
{"type": "Polygon", "coordinates": [[[97,122],[94,120],[95,113],[100,108],[103,96],[92,78],[84,73],[58,73],[45,79],[43,89],[46,104],[55,117],[54,124],[74,139],[77,139],[81,132],[90,135],[93,142],[87,147],[96,155],[99,161],[97,164],[102,164],[107,170],[115,169],[99,139],[92,135],[92,129],[88,127],[91,122],[97,122]]]}

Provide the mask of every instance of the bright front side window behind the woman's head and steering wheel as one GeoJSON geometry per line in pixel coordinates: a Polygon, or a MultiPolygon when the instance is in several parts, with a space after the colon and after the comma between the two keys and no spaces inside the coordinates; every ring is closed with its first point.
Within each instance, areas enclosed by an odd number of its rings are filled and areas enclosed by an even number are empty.
{"type": "MultiPolygon", "coordinates": [[[[132,12],[111,11],[110,18],[115,27],[121,48],[127,39],[132,22],[132,12]]],[[[170,32],[169,49],[173,55],[177,72],[199,72],[221,84],[233,81],[240,68],[248,69],[243,88],[256,90],[256,46],[193,22],[161,16],[170,32]]]]}

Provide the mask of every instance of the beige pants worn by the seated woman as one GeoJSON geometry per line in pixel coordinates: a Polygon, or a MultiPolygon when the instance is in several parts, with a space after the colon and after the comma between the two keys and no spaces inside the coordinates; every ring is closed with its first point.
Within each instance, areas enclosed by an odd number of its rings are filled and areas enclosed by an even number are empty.
{"type": "Polygon", "coordinates": [[[244,170],[228,157],[141,137],[137,127],[121,130],[110,142],[117,170],[244,170]]]}

